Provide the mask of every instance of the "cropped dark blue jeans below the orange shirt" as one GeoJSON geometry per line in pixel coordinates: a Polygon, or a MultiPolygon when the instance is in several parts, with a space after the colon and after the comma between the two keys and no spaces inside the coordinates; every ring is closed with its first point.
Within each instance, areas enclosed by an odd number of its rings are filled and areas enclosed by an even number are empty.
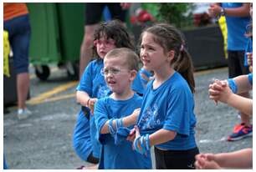
{"type": "Polygon", "coordinates": [[[4,21],[3,29],[8,31],[15,73],[28,73],[28,48],[31,35],[28,14],[4,21]]]}

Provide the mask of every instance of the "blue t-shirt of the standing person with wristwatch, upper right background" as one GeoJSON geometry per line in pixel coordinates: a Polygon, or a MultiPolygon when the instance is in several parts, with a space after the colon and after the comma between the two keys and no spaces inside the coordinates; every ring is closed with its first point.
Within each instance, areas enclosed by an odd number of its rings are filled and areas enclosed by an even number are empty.
{"type": "MultiPolygon", "coordinates": [[[[239,8],[243,3],[222,3],[223,8],[239,8]]],[[[228,27],[228,50],[244,51],[247,39],[244,34],[250,22],[249,17],[230,17],[225,16],[228,27]]]]}

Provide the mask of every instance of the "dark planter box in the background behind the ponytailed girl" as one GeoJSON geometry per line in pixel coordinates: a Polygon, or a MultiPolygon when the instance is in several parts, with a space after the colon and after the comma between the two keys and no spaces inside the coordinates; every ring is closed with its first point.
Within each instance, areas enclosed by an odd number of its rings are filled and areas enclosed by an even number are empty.
{"type": "MultiPolygon", "coordinates": [[[[136,43],[145,26],[132,26],[136,43]]],[[[196,70],[227,66],[223,51],[223,35],[218,25],[182,31],[186,38],[186,48],[192,56],[196,70]]]]}

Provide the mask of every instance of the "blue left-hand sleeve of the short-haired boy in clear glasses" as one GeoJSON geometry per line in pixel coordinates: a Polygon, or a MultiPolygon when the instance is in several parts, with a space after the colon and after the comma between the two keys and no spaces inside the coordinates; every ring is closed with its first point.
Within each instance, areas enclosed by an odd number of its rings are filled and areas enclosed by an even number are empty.
{"type": "Polygon", "coordinates": [[[105,134],[100,134],[100,130],[104,124],[109,120],[105,102],[99,99],[95,104],[95,125],[96,125],[96,138],[101,144],[105,143],[105,134]]]}

